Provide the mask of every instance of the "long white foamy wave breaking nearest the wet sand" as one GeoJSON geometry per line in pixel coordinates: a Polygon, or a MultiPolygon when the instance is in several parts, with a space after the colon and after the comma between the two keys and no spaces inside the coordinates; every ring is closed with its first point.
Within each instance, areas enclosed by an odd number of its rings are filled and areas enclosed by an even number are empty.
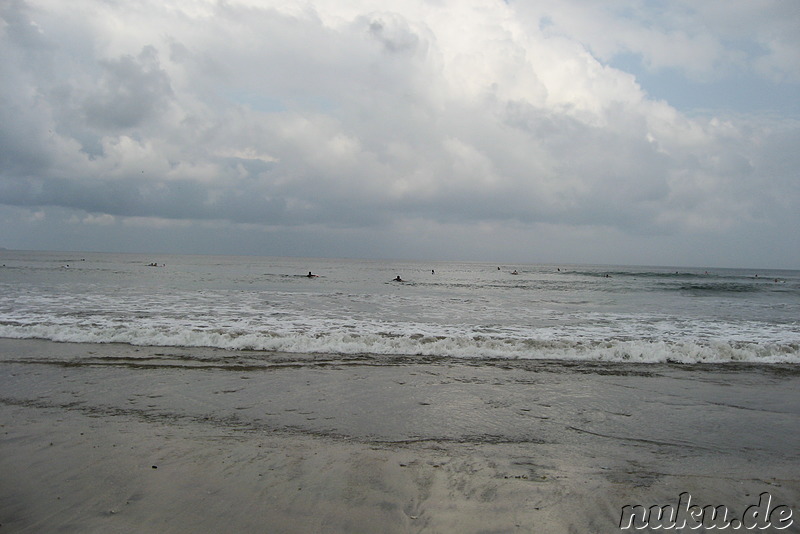
{"type": "Polygon", "coordinates": [[[79,328],[0,325],[0,337],[72,343],[219,348],[302,354],[375,354],[469,359],[533,359],[633,363],[800,363],[800,342],[660,339],[552,340],[489,335],[252,333],[147,327],[79,328]]]}

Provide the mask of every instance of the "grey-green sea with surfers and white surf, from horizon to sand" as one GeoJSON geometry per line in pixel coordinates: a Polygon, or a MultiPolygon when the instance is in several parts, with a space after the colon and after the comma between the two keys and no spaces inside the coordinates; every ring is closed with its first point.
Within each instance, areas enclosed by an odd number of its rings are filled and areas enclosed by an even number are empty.
{"type": "Polygon", "coordinates": [[[0,265],[7,338],[800,363],[800,271],[7,250],[0,265]]]}

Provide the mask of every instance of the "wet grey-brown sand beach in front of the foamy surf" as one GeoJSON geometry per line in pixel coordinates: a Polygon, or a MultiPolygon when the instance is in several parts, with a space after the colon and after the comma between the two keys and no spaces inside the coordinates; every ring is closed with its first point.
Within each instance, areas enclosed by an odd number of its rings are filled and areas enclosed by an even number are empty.
{"type": "Polygon", "coordinates": [[[791,365],[0,339],[0,532],[621,532],[682,492],[800,520],[798,436],[791,365]]]}

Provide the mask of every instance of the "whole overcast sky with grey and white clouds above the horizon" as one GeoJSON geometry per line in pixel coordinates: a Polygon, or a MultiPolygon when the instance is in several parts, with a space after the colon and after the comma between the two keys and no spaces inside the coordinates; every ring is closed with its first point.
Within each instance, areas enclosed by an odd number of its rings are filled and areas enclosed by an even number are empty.
{"type": "Polygon", "coordinates": [[[0,0],[0,246],[800,268],[797,0],[0,0]]]}

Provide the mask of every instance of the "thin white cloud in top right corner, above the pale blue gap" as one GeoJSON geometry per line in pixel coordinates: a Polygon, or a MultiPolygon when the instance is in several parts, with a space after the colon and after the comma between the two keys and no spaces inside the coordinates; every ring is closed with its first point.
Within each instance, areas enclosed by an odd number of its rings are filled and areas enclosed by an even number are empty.
{"type": "Polygon", "coordinates": [[[548,35],[583,43],[610,61],[630,53],[650,69],[675,69],[711,80],[731,73],[774,68],[800,81],[800,6],[793,0],[550,0],[513,2],[528,23],[548,35]]]}

